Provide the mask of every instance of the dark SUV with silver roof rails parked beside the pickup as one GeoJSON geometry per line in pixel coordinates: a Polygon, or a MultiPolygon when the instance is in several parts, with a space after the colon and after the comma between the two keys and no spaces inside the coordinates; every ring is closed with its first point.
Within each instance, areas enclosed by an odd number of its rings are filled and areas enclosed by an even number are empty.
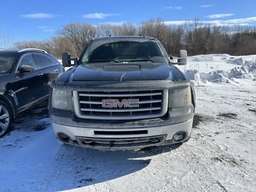
{"type": "Polygon", "coordinates": [[[0,138],[19,112],[48,98],[62,72],[62,64],[44,50],[0,50],[0,138]]]}

